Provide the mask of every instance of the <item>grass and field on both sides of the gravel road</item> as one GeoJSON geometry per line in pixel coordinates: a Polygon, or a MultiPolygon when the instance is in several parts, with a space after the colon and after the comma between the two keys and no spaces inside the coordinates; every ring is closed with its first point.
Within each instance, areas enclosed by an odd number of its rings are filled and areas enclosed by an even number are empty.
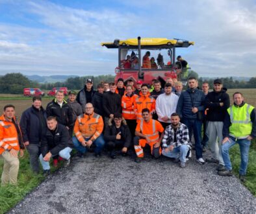
{"type": "MultiPolygon", "coordinates": [[[[249,104],[256,106],[256,89],[229,89],[227,92],[231,97],[231,103],[233,103],[232,95],[235,91],[240,91],[244,94],[245,101],[249,104]]],[[[43,97],[43,106],[46,107],[53,97],[43,97]]],[[[18,119],[21,117],[21,113],[29,108],[32,104],[31,97],[23,97],[23,95],[6,95],[0,94],[0,109],[3,111],[3,106],[6,104],[14,104],[16,106],[16,115],[18,119]]],[[[231,161],[233,168],[238,175],[238,169],[240,165],[240,152],[238,146],[233,147],[231,150],[231,161]]],[[[3,169],[3,160],[0,160],[0,174],[3,169]]],[[[18,186],[0,187],[0,213],[5,213],[12,208],[17,202],[19,202],[27,193],[29,193],[34,187],[44,180],[42,174],[36,175],[31,172],[29,166],[29,156],[25,152],[25,156],[20,159],[20,169],[18,176],[18,186]]],[[[246,187],[250,189],[251,193],[256,196],[256,140],[251,143],[250,149],[250,161],[248,165],[246,187]]]]}

